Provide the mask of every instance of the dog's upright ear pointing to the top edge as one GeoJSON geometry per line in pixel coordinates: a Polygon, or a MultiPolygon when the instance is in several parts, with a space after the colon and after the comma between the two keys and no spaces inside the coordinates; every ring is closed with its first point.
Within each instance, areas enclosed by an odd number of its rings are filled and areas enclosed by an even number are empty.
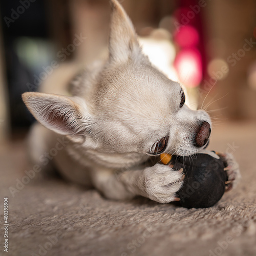
{"type": "Polygon", "coordinates": [[[141,54],[141,49],[130,18],[117,0],[111,0],[110,62],[125,62],[129,57],[141,54]]]}

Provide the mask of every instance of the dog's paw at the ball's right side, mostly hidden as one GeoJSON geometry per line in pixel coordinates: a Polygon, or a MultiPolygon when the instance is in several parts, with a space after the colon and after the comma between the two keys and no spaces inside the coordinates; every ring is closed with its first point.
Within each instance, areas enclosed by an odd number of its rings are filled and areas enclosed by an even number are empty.
{"type": "Polygon", "coordinates": [[[237,186],[238,182],[241,179],[241,174],[239,170],[239,164],[234,159],[233,155],[230,153],[218,153],[219,157],[227,165],[224,170],[227,172],[228,180],[226,181],[226,191],[230,190],[237,186]]]}

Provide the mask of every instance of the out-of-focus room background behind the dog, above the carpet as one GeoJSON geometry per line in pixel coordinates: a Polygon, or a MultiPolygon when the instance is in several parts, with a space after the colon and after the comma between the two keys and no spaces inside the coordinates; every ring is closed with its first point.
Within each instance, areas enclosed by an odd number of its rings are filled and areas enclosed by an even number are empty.
{"type": "MultiPolygon", "coordinates": [[[[255,120],[254,0],[121,3],[145,53],[186,87],[191,108],[207,108],[216,123],[255,120]]],[[[1,1],[0,9],[0,141],[4,142],[24,137],[34,121],[22,101],[23,92],[38,91],[43,83],[54,92],[77,67],[104,54],[110,4],[12,0],[1,1]]]]}

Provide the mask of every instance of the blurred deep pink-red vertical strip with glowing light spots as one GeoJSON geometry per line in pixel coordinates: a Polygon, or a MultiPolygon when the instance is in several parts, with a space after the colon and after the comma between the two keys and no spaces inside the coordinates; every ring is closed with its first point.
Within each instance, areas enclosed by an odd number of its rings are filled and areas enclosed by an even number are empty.
{"type": "Polygon", "coordinates": [[[205,5],[199,6],[197,0],[180,0],[179,8],[175,11],[178,24],[174,40],[179,51],[174,65],[180,82],[190,88],[199,86],[206,74],[202,28],[205,5]]]}

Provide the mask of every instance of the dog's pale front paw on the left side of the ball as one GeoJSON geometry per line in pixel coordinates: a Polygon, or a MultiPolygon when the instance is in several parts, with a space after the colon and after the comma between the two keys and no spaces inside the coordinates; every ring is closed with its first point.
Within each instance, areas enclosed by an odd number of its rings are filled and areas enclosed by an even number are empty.
{"type": "Polygon", "coordinates": [[[176,192],[182,186],[184,177],[183,169],[174,170],[162,164],[148,167],[143,170],[143,196],[159,203],[177,201],[176,192]]]}

